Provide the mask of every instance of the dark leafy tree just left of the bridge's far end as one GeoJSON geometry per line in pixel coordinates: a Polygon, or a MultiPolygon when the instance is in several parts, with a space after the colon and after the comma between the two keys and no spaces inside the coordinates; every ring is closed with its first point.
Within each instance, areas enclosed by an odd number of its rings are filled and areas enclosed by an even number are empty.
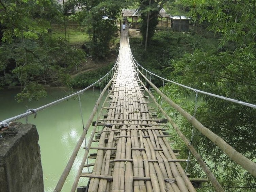
{"type": "Polygon", "coordinates": [[[105,57],[108,53],[109,42],[118,30],[117,18],[126,4],[124,0],[76,0],[75,6],[80,7],[76,14],[90,35],[87,46],[95,58],[105,57]]]}

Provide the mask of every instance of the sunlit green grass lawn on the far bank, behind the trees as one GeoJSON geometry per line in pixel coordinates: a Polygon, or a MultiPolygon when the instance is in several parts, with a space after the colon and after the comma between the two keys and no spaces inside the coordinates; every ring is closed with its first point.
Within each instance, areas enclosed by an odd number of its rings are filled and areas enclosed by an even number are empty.
{"type": "MultiPolygon", "coordinates": [[[[77,25],[68,25],[66,27],[66,38],[71,45],[83,44],[88,40],[86,29],[77,25]]],[[[65,38],[64,26],[52,26],[52,35],[65,38]]]]}

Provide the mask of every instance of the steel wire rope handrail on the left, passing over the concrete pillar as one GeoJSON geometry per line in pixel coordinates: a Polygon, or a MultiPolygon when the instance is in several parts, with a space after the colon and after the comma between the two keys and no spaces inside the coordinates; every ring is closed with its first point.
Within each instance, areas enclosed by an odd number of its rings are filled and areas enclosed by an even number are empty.
{"type": "Polygon", "coordinates": [[[41,111],[41,110],[43,110],[43,109],[47,109],[47,108],[49,108],[49,107],[52,107],[52,106],[54,106],[54,105],[56,105],[56,104],[58,104],[58,103],[61,103],[62,101],[65,101],[65,100],[67,100],[67,99],[69,99],[69,98],[73,98],[73,97],[75,97],[76,95],[83,94],[84,91],[90,89],[90,88],[93,87],[95,84],[100,83],[100,82],[102,81],[102,79],[108,77],[108,75],[115,69],[115,67],[116,67],[116,63],[115,63],[115,65],[112,67],[112,69],[111,69],[105,76],[103,76],[102,78],[100,78],[99,80],[97,80],[96,82],[94,82],[93,84],[87,86],[87,87],[84,88],[83,90],[80,90],[80,91],[78,91],[78,92],[76,92],[76,93],[73,93],[73,94],[71,94],[71,95],[68,95],[68,96],[66,96],[66,97],[63,97],[63,98],[58,99],[58,100],[56,100],[56,101],[53,101],[53,102],[51,102],[51,103],[48,103],[48,104],[46,104],[46,105],[44,105],[44,106],[41,106],[41,107],[38,107],[38,108],[36,108],[36,109],[29,109],[26,113],[22,113],[22,114],[19,114],[19,115],[16,115],[16,116],[13,116],[13,117],[11,117],[11,118],[8,118],[8,119],[5,119],[5,120],[1,121],[1,122],[0,122],[0,128],[2,128],[2,127],[7,127],[10,123],[12,123],[12,122],[14,122],[14,121],[17,121],[17,120],[19,120],[19,119],[28,117],[28,116],[30,116],[30,115],[32,115],[32,114],[35,114],[35,115],[36,115],[36,113],[37,113],[38,111],[41,111]]]}

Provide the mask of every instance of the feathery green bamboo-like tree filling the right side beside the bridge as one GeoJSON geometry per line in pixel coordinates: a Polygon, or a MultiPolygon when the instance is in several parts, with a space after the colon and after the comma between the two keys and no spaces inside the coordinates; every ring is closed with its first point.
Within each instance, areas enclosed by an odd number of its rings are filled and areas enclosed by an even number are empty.
{"type": "MultiPolygon", "coordinates": [[[[215,49],[195,50],[193,54],[185,54],[182,59],[172,61],[174,71],[170,78],[196,89],[255,104],[255,2],[182,0],[182,3],[191,10],[193,21],[207,23],[207,29],[214,32],[220,44],[215,49]]],[[[193,114],[195,104],[181,100],[191,93],[176,85],[167,85],[164,90],[193,114]]],[[[255,160],[255,109],[201,94],[199,100],[196,118],[239,153],[255,160]]],[[[176,115],[174,112],[173,117],[181,122],[182,131],[190,138],[191,125],[176,115]]],[[[202,133],[195,131],[192,143],[215,176],[227,186],[227,191],[255,190],[256,179],[230,160],[202,133]]],[[[184,149],[183,152],[187,156],[188,151],[184,149]]],[[[195,160],[192,159],[192,162],[195,160]]],[[[194,176],[202,176],[202,170],[195,163],[190,164],[189,171],[194,176]]]]}

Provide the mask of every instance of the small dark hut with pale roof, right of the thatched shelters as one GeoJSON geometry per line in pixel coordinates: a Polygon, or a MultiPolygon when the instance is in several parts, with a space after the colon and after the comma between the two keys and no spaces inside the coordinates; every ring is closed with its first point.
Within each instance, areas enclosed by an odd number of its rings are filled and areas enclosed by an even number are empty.
{"type": "Polygon", "coordinates": [[[185,16],[173,16],[171,19],[171,28],[173,31],[188,32],[189,31],[189,18],[185,16]]]}

